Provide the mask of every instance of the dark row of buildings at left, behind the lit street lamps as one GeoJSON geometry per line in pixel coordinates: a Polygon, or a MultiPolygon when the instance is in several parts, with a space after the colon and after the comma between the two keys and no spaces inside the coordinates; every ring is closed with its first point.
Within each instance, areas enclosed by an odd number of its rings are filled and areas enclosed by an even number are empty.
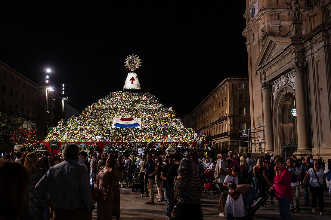
{"type": "Polygon", "coordinates": [[[43,86],[43,77],[37,84],[0,61],[0,79],[0,110],[7,113],[10,121],[23,119],[23,127],[35,127],[38,140],[44,140],[46,125],[56,126],[62,118],[68,120],[81,113],[63,101],[61,87],[43,86]],[[57,99],[64,102],[63,109],[61,103],[56,105],[57,99]]]}

